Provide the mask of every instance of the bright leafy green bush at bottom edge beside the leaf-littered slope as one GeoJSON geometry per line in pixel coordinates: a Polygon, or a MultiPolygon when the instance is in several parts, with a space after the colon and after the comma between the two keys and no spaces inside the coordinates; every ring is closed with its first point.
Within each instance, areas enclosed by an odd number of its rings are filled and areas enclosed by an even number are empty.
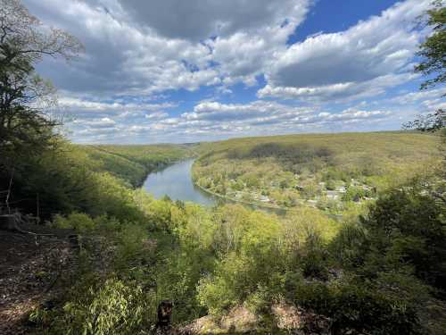
{"type": "MultiPolygon", "coordinates": [[[[85,284],[85,283],[84,283],[85,284]]],[[[154,322],[156,301],[133,282],[109,279],[89,289],[76,289],[78,296],[63,306],[63,314],[45,325],[44,333],[67,335],[120,335],[149,330],[154,322]]],[[[33,321],[42,321],[35,311],[33,321]]]]}

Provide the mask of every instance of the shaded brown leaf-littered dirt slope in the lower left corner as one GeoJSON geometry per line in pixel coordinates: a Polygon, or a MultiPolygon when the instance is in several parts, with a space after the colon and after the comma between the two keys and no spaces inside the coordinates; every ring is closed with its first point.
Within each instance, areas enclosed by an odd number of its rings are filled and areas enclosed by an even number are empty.
{"type": "Polygon", "coordinates": [[[59,282],[75,267],[75,255],[67,236],[0,230],[0,334],[27,333],[32,309],[51,304],[62,293],[59,282]]]}

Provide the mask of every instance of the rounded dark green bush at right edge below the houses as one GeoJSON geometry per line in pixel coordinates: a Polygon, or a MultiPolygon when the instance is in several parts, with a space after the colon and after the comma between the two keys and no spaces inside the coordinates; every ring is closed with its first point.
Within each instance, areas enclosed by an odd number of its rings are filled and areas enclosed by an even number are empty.
{"type": "Polygon", "coordinates": [[[381,255],[396,264],[414,266],[417,277],[446,289],[444,207],[420,189],[394,190],[381,197],[363,225],[381,255]]]}

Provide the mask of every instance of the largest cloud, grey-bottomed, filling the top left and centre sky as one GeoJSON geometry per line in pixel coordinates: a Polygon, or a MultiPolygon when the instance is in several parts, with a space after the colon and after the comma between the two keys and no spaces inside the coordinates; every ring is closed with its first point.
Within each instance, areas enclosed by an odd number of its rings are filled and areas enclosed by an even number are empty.
{"type": "Polygon", "coordinates": [[[87,49],[70,71],[56,61],[40,70],[60,88],[101,95],[253,84],[260,60],[285,48],[310,7],[310,0],[260,3],[25,0],[32,13],[72,32],[87,49]]]}

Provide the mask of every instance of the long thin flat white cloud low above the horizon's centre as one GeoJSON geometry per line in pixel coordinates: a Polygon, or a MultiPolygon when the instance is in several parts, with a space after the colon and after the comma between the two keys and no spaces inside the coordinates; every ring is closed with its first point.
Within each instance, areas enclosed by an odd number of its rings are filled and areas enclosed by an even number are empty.
{"type": "Polygon", "coordinates": [[[161,121],[163,130],[214,131],[214,134],[239,135],[275,133],[298,130],[302,126],[310,129],[327,124],[339,125],[355,121],[380,120],[390,115],[387,111],[363,111],[346,109],[340,113],[325,112],[319,108],[296,107],[276,102],[254,101],[250,104],[221,104],[204,102],[194,106],[194,111],[183,113],[178,118],[161,121]]]}

